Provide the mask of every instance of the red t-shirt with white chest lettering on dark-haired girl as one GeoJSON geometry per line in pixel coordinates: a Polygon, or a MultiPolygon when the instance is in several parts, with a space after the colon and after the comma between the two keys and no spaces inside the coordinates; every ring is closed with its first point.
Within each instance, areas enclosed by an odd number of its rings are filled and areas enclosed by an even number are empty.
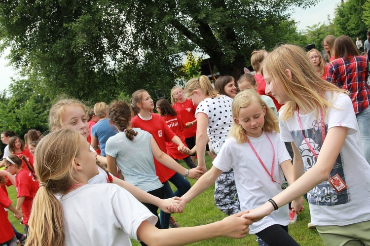
{"type": "MultiPolygon", "coordinates": [[[[175,117],[171,115],[167,115],[167,116],[163,115],[162,118],[166,122],[167,126],[174,132],[174,134],[176,134],[181,139],[181,141],[185,143],[185,136],[183,134],[183,131],[185,129],[185,124],[183,123],[179,115],[176,115],[175,117]]],[[[172,141],[166,142],[166,147],[167,147],[167,154],[171,156],[173,159],[182,160],[185,157],[187,157],[187,155],[185,155],[184,153],[181,153],[178,150],[177,148],[178,146],[172,141]]]]}

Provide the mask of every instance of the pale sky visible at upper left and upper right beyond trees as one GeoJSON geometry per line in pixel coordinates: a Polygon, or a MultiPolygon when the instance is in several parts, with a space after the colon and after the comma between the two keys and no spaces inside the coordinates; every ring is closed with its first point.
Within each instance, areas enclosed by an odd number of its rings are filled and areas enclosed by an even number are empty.
{"type": "MultiPolygon", "coordinates": [[[[310,8],[292,8],[292,19],[299,22],[297,27],[298,30],[304,31],[307,26],[312,26],[318,24],[319,22],[323,24],[327,23],[327,16],[330,15],[330,18],[334,17],[334,7],[340,0],[321,0],[315,6],[310,8]]],[[[5,56],[9,53],[9,50],[6,50],[3,54],[0,55],[0,91],[7,89],[11,83],[11,77],[19,78],[10,66],[6,66],[8,61],[5,60],[5,56]]]]}

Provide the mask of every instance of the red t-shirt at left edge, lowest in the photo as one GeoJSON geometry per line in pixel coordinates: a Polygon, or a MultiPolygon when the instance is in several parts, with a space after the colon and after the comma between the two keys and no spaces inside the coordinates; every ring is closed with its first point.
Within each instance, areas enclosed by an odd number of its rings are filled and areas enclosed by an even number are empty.
{"type": "MultiPolygon", "coordinates": [[[[4,185],[1,185],[4,186],[4,185]]],[[[14,237],[13,227],[8,220],[8,213],[4,208],[8,208],[11,205],[11,200],[8,195],[0,189],[0,244],[9,241],[14,237]]]]}

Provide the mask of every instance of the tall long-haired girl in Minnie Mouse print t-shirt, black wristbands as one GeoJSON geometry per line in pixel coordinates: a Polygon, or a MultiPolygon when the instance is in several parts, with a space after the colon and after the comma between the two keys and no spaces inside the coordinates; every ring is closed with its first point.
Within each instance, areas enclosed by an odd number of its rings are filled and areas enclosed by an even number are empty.
{"type": "Polygon", "coordinates": [[[321,79],[295,45],[272,51],[262,74],[266,93],[285,104],[280,134],[292,142],[296,180],[246,217],[257,221],[307,193],[311,223],[326,245],[370,245],[370,165],[348,91],[321,79]]]}

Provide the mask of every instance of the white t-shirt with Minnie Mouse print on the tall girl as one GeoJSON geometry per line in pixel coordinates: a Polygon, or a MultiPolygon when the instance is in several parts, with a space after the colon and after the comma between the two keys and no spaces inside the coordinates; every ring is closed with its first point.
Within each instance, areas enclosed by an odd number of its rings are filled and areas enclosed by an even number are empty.
{"type": "MultiPolygon", "coordinates": [[[[325,97],[331,100],[332,93],[327,92],[325,97]]],[[[330,108],[324,118],[326,134],[332,127],[347,127],[348,134],[331,176],[338,174],[348,188],[337,193],[326,180],[309,191],[307,198],[314,225],[343,226],[370,220],[370,165],[361,153],[360,133],[351,99],[343,93],[335,93],[332,104],[335,108],[330,108]]],[[[323,144],[320,117],[316,119],[312,112],[299,114],[299,119],[305,138],[320,156],[323,144]]],[[[295,142],[305,171],[315,165],[317,159],[303,139],[296,114],[285,122],[280,121],[280,134],[283,141],[295,142]]]]}

